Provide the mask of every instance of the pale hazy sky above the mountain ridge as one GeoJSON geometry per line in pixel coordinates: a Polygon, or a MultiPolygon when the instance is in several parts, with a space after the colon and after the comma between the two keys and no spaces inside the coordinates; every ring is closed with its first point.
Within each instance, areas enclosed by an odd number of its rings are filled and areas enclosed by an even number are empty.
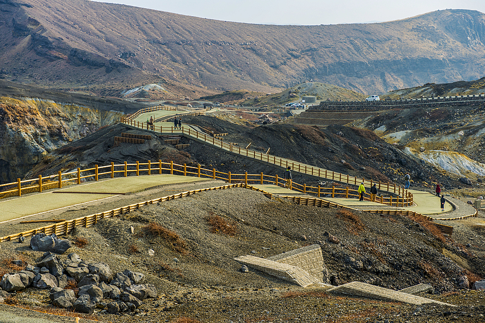
{"type": "Polygon", "coordinates": [[[485,13],[485,0],[104,0],[226,21],[329,25],[389,21],[443,9],[485,13]]]}

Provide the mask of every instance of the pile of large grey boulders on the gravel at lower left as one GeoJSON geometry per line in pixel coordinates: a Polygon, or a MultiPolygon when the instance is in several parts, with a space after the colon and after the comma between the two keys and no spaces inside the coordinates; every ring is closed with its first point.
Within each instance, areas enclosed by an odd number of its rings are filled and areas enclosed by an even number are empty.
{"type": "Polygon", "coordinates": [[[0,281],[0,298],[8,297],[5,292],[27,287],[49,288],[50,300],[57,307],[74,308],[83,313],[93,313],[95,308],[111,314],[133,312],[144,299],[157,297],[155,286],[144,284],[144,278],[142,273],[128,269],[113,275],[106,263],[82,261],[75,253],[62,261],[59,255],[48,251],[35,266],[27,265],[25,270],[5,274],[0,281]],[[77,297],[74,290],[65,289],[75,284],[77,297]]]}

